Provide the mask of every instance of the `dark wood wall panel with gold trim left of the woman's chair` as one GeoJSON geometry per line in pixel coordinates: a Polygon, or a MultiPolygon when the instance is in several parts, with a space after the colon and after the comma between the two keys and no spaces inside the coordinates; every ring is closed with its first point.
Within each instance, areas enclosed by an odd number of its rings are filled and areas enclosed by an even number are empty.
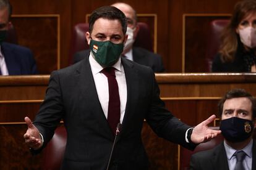
{"type": "Polygon", "coordinates": [[[207,47],[210,22],[213,20],[229,19],[225,14],[184,14],[184,55],[182,56],[182,72],[207,72],[207,47]]]}

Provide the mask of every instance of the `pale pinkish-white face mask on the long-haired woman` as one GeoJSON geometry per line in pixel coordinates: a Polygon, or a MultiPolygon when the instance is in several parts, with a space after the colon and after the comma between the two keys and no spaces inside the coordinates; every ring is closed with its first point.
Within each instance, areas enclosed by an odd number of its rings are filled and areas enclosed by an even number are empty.
{"type": "Polygon", "coordinates": [[[242,43],[250,48],[256,47],[256,29],[248,26],[242,30],[238,29],[242,43]]]}

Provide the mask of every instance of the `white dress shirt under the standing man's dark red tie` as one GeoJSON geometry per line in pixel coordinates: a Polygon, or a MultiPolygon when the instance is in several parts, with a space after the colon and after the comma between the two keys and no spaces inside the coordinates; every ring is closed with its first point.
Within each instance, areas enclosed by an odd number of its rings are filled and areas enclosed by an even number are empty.
{"type": "MultiPolygon", "coordinates": [[[[103,67],[101,67],[101,65],[96,62],[96,60],[92,56],[92,53],[90,53],[89,62],[92,69],[93,79],[95,82],[96,91],[100,100],[101,107],[103,109],[104,115],[106,116],[106,118],[108,118],[108,78],[103,73],[101,73],[103,67]]],[[[124,74],[124,67],[122,66],[120,58],[113,65],[113,67],[116,68],[116,81],[118,84],[118,91],[120,96],[120,123],[122,123],[127,102],[126,75],[124,74]]]]}

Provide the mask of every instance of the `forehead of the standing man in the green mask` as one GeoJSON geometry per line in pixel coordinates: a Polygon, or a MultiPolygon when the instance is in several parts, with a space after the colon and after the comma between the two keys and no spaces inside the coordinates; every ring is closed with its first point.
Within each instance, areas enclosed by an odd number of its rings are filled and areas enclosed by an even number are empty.
{"type": "Polygon", "coordinates": [[[92,34],[98,33],[106,34],[107,36],[112,34],[124,35],[122,33],[122,25],[119,20],[109,20],[106,18],[98,18],[98,20],[95,21],[92,34]]]}

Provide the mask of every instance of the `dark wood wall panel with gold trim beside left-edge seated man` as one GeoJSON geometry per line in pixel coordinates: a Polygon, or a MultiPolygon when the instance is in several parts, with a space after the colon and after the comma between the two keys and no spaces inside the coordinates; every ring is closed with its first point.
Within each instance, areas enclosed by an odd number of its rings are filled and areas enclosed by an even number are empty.
{"type": "Polygon", "coordinates": [[[14,15],[12,23],[18,44],[32,50],[41,75],[60,68],[59,15],[14,15]]]}

